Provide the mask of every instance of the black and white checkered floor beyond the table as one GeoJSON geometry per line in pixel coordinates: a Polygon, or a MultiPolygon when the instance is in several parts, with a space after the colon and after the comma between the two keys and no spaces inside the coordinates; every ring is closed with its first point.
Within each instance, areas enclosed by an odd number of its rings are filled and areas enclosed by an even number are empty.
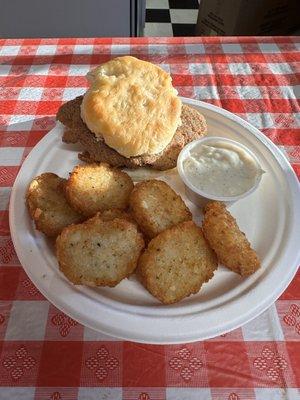
{"type": "Polygon", "coordinates": [[[146,0],[144,36],[193,36],[198,0],[146,0]]]}

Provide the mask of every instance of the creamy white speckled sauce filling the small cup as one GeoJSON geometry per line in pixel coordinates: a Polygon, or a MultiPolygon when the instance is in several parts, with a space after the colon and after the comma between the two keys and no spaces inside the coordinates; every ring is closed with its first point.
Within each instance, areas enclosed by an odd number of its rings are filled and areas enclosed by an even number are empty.
{"type": "Polygon", "coordinates": [[[193,186],[220,197],[246,193],[264,173],[248,152],[221,140],[194,146],[182,167],[193,186]]]}

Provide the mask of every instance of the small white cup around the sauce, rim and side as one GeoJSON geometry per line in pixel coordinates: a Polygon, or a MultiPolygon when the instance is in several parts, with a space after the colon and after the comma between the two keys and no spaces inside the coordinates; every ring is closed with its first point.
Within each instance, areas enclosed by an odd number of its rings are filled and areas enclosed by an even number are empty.
{"type": "Polygon", "coordinates": [[[214,196],[211,194],[208,194],[200,189],[198,189],[197,187],[195,187],[187,178],[184,169],[183,169],[183,162],[186,158],[189,157],[190,155],[190,150],[192,150],[195,146],[198,146],[199,144],[213,144],[215,142],[226,142],[226,143],[231,143],[236,147],[239,147],[241,149],[243,149],[257,164],[257,168],[261,169],[261,166],[259,164],[258,158],[256,157],[255,154],[252,153],[252,151],[250,151],[246,146],[244,146],[241,143],[238,143],[234,140],[231,139],[227,139],[227,138],[223,138],[220,136],[205,136],[201,139],[197,139],[194,140],[193,142],[190,142],[189,144],[187,144],[179,153],[178,159],[177,159],[177,170],[178,173],[181,177],[181,179],[183,180],[183,183],[185,185],[185,192],[187,197],[189,198],[189,200],[191,200],[194,204],[196,204],[197,206],[203,207],[205,206],[205,204],[207,204],[209,201],[222,201],[223,203],[225,203],[227,206],[232,205],[233,203],[235,203],[236,201],[243,199],[244,197],[248,196],[249,194],[253,193],[260,181],[261,181],[261,177],[262,174],[259,174],[258,177],[256,178],[253,186],[247,190],[246,192],[238,195],[238,196],[214,196]]]}

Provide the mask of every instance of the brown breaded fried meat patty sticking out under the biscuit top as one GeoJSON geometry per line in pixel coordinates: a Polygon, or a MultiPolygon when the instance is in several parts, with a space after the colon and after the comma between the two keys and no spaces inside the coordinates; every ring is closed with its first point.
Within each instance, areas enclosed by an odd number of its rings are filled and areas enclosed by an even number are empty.
{"type": "Polygon", "coordinates": [[[68,129],[63,134],[63,141],[66,143],[79,142],[84,149],[84,152],[79,154],[79,158],[88,163],[107,162],[115,167],[148,166],[157,170],[166,170],[176,167],[178,154],[187,143],[207,134],[207,125],[203,115],[194,108],[183,105],[182,124],[162,152],[126,158],[105,144],[103,140],[96,139],[80,117],[81,103],[82,96],[63,104],[58,110],[57,119],[68,129]]]}

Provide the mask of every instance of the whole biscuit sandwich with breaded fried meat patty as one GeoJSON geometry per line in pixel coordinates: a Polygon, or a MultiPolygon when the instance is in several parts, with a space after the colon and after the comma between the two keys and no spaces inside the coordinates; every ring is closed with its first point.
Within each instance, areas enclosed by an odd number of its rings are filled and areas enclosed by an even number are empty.
{"type": "Polygon", "coordinates": [[[207,132],[204,117],[182,105],[171,76],[135,57],[117,57],[87,74],[84,96],[63,104],[62,140],[79,142],[86,162],[116,167],[176,166],[180,150],[207,132]]]}

